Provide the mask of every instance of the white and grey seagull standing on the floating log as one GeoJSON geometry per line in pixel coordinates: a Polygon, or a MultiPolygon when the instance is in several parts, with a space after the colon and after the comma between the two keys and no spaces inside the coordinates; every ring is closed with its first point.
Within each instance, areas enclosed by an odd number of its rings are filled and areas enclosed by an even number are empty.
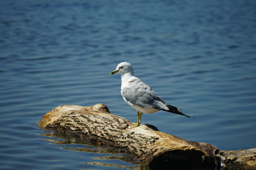
{"type": "Polygon", "coordinates": [[[142,113],[155,113],[163,110],[190,118],[190,116],[183,114],[179,108],[168,105],[151,87],[135,77],[130,63],[118,64],[110,75],[115,73],[121,73],[121,95],[125,102],[137,110],[137,123],[133,123],[131,128],[140,125],[142,113]]]}

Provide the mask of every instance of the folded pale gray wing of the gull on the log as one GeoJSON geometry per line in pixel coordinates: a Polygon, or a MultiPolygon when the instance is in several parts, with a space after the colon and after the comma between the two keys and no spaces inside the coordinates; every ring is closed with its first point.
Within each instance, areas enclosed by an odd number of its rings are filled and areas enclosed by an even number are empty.
{"type": "Polygon", "coordinates": [[[128,87],[121,90],[122,96],[130,103],[142,108],[159,108],[168,110],[166,102],[140,79],[134,79],[128,82],[128,87]]]}

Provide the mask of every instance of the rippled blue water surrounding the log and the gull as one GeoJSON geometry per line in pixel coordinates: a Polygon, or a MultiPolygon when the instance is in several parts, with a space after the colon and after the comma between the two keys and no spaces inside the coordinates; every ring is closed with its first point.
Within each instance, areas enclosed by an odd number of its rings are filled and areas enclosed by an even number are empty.
{"type": "Polygon", "coordinates": [[[0,1],[0,169],[139,169],[122,154],[40,128],[60,105],[102,103],[136,122],[117,64],[187,118],[141,123],[222,150],[256,147],[256,2],[0,1]]]}

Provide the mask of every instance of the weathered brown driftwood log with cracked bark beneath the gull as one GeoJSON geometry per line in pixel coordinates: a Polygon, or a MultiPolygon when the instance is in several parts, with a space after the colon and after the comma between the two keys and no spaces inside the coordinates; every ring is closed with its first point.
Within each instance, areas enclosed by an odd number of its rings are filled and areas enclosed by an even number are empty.
{"type": "Polygon", "coordinates": [[[159,132],[152,125],[130,128],[132,122],[112,115],[107,106],[58,106],[40,121],[44,128],[93,140],[126,154],[133,163],[149,167],[194,167],[256,170],[256,148],[218,150],[159,132]]]}

